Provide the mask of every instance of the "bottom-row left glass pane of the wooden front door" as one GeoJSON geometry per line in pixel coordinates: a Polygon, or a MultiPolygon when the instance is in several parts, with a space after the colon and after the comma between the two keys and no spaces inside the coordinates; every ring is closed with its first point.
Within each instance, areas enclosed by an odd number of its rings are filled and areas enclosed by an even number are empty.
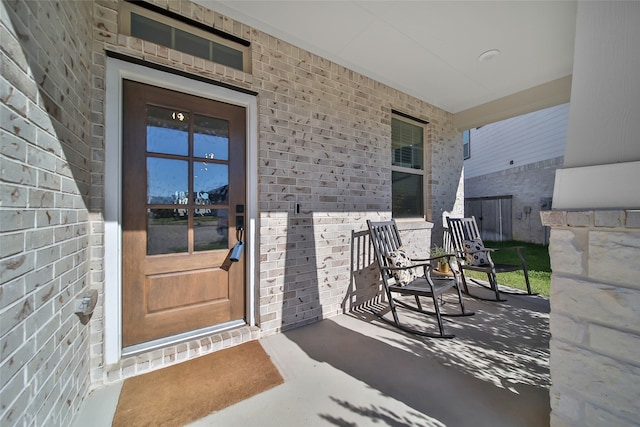
{"type": "Polygon", "coordinates": [[[147,209],[147,255],[187,252],[186,209],[147,209]]]}

